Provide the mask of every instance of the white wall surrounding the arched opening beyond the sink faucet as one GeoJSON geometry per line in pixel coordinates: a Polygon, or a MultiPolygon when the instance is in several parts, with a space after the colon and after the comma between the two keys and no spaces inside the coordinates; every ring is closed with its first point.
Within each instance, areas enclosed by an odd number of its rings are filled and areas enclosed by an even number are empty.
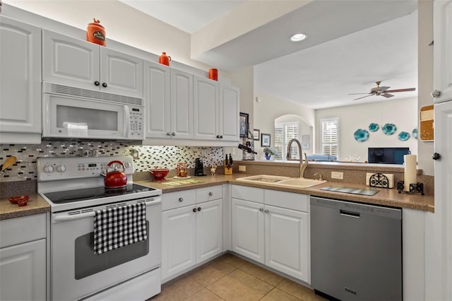
{"type": "MultiPolygon", "coordinates": [[[[258,91],[254,92],[254,129],[260,129],[261,133],[270,134],[270,143],[273,147],[275,119],[286,114],[293,114],[306,122],[309,126],[315,124],[314,110],[295,102],[283,100],[274,95],[268,95],[258,91]],[[256,101],[259,98],[259,102],[256,101]]],[[[314,142],[313,142],[314,143],[314,142]]],[[[258,152],[257,158],[262,156],[261,141],[255,141],[254,148],[258,152]]]]}

